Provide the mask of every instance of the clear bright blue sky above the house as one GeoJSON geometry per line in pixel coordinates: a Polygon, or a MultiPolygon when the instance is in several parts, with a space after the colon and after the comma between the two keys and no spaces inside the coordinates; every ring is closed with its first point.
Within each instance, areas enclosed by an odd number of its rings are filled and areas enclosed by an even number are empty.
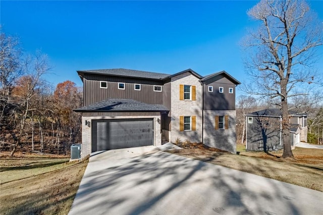
{"type": "MultiPolygon", "coordinates": [[[[203,76],[225,70],[244,82],[239,41],[256,26],[246,14],[256,3],[0,1],[0,23],[26,52],[48,55],[53,69],[45,79],[54,86],[66,80],[82,86],[77,70],[111,68],[169,74],[190,68],[203,76]]],[[[323,20],[323,1],[310,5],[323,20]]]]}

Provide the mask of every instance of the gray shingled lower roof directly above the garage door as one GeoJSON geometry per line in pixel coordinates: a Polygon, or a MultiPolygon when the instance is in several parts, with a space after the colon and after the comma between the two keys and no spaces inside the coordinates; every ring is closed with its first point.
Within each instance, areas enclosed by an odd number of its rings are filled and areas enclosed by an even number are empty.
{"type": "Polygon", "coordinates": [[[75,112],[160,112],[169,111],[162,104],[147,104],[134,99],[109,98],[74,110],[75,112]]]}

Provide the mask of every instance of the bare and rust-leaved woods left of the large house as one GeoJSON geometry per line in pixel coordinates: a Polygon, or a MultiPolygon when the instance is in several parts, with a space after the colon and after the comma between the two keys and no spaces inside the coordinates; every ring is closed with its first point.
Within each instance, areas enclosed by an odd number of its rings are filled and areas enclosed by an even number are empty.
{"type": "Polygon", "coordinates": [[[17,37],[0,34],[0,150],[69,153],[81,141],[82,90],[71,81],[56,86],[43,79],[47,56],[27,55],[17,37]]]}

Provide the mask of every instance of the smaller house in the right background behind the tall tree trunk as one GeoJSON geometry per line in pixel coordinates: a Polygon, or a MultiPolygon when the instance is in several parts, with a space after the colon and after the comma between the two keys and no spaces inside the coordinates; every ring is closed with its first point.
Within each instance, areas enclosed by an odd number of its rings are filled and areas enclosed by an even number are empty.
{"type": "MultiPolygon", "coordinates": [[[[246,150],[271,151],[284,147],[282,114],[279,109],[265,109],[246,117],[246,150]]],[[[290,141],[295,146],[307,142],[307,115],[290,112],[290,141]]]]}

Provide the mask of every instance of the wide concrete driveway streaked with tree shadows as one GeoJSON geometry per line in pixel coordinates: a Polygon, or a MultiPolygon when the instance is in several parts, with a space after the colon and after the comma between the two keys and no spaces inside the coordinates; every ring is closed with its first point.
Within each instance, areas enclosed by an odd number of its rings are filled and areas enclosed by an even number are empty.
{"type": "Polygon", "coordinates": [[[319,191],[147,146],[90,157],[69,214],[313,215],[322,202],[319,191]]]}

